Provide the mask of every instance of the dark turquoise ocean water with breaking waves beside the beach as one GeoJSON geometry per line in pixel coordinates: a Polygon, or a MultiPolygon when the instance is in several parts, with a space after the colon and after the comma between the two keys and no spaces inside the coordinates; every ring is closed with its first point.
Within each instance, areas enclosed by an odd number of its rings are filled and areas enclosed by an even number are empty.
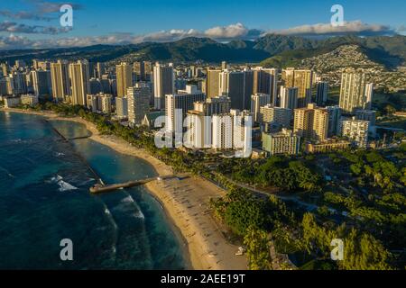
{"type": "Polygon", "coordinates": [[[143,187],[91,195],[95,175],[117,183],[156,175],[142,159],[91,139],[81,124],[0,112],[0,269],[183,269],[179,238],[143,187]],[[60,260],[60,240],[73,261],[60,260]]]}

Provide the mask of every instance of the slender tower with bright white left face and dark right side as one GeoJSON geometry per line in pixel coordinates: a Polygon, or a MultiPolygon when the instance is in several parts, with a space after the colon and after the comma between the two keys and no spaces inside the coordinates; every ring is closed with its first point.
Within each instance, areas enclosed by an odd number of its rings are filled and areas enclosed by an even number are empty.
{"type": "Polygon", "coordinates": [[[173,67],[162,66],[159,62],[153,67],[153,97],[154,108],[165,108],[165,95],[173,94],[175,86],[175,75],[173,73],[173,67]]]}

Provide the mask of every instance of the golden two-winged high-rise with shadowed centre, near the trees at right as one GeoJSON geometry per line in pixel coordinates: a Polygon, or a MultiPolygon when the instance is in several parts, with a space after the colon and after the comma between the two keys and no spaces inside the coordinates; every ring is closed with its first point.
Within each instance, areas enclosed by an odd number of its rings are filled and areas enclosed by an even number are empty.
{"type": "Polygon", "coordinates": [[[300,137],[323,141],[328,138],[328,111],[310,103],[295,110],[294,132],[300,137]]]}

